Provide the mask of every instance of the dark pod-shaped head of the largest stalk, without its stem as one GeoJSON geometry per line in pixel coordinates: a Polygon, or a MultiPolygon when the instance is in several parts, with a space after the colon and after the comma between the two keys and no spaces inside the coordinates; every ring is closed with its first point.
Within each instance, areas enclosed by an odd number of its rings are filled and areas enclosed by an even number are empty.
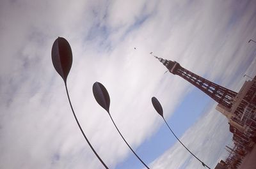
{"type": "Polygon", "coordinates": [[[66,84],[72,66],[72,50],[65,38],[58,37],[54,41],[52,45],[52,64],[66,84]]]}

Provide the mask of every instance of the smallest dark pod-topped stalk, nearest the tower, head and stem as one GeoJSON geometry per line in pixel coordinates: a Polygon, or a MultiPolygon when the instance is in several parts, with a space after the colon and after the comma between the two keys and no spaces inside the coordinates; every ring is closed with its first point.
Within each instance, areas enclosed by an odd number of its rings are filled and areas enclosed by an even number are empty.
{"type": "MultiPolygon", "coordinates": [[[[152,105],[154,106],[154,108],[155,108],[155,110],[157,111],[157,113],[158,113],[159,115],[161,115],[161,117],[163,117],[163,119],[164,119],[163,108],[162,108],[161,104],[159,103],[159,101],[157,100],[157,98],[152,97],[151,101],[152,101],[152,105]]],[[[168,128],[170,129],[170,131],[172,132],[172,134],[175,136],[175,138],[181,143],[181,145],[182,145],[190,154],[192,154],[198,161],[200,161],[200,163],[202,163],[202,165],[203,165],[204,167],[206,166],[207,168],[210,168],[209,166],[205,165],[205,163],[204,163],[203,161],[201,161],[199,158],[197,158],[197,157],[195,156],[195,154],[193,154],[191,151],[189,151],[189,149],[188,149],[188,148],[179,140],[179,138],[175,135],[175,133],[172,131],[172,129],[170,128],[170,126],[168,125],[168,123],[165,121],[165,119],[164,119],[164,122],[165,122],[165,124],[168,126],[168,128]]],[[[210,169],[211,169],[211,168],[210,168],[210,169]]]]}

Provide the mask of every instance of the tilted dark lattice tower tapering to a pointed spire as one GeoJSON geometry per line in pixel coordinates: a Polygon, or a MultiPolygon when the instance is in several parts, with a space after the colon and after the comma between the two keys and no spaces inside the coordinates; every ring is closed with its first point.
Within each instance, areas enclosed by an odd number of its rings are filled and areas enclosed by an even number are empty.
{"type": "Polygon", "coordinates": [[[236,96],[237,92],[231,91],[221,85],[214,84],[213,82],[202,78],[195,73],[186,70],[180,66],[179,62],[173,62],[166,59],[162,59],[161,57],[157,57],[154,55],[156,59],[163,63],[164,66],[173,73],[174,75],[179,75],[184,78],[191,84],[198,87],[201,91],[205,92],[212,99],[220,103],[223,107],[230,109],[232,107],[232,99],[236,96]]]}

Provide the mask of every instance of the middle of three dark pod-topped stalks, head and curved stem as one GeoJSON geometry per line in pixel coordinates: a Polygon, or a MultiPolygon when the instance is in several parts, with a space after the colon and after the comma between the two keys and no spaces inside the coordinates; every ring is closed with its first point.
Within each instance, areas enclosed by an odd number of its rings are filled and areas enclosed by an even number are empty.
{"type": "Polygon", "coordinates": [[[117,128],[115,122],[113,121],[111,114],[109,113],[109,105],[110,105],[110,98],[109,98],[109,94],[107,89],[104,87],[104,85],[100,84],[99,82],[95,82],[93,84],[92,87],[92,91],[93,91],[93,96],[96,99],[97,103],[99,103],[99,105],[104,108],[107,112],[108,115],[111,119],[111,121],[113,122],[113,124],[115,125],[118,133],[120,134],[120,136],[122,136],[124,142],[127,144],[127,146],[131,149],[131,151],[133,152],[133,154],[141,161],[141,163],[143,163],[143,165],[147,168],[149,168],[141,159],[140,157],[136,154],[136,152],[134,152],[131,148],[131,146],[129,145],[129,143],[126,142],[126,140],[124,139],[124,136],[120,133],[119,129],[117,128]]]}

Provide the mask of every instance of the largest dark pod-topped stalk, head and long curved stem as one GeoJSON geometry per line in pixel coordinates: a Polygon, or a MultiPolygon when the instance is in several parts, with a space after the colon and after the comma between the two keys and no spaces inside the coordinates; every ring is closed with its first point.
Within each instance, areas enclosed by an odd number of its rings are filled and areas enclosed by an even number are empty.
{"type": "Polygon", "coordinates": [[[84,139],[90,145],[92,151],[97,156],[97,158],[102,163],[102,165],[104,165],[104,167],[108,169],[108,166],[106,166],[105,163],[102,161],[102,159],[100,159],[99,155],[93,149],[89,140],[86,138],[86,135],[84,134],[84,131],[81,128],[81,126],[80,126],[80,124],[77,120],[76,114],[74,112],[74,109],[72,107],[72,104],[71,104],[71,101],[70,101],[70,98],[69,98],[68,89],[67,89],[67,77],[68,77],[68,73],[69,73],[69,71],[71,69],[71,66],[72,66],[72,50],[71,50],[71,47],[70,47],[68,41],[65,40],[65,38],[58,37],[54,41],[54,43],[52,45],[52,64],[53,64],[55,70],[61,76],[61,78],[63,78],[71,110],[72,110],[73,115],[76,119],[77,125],[78,125],[79,129],[81,130],[81,132],[84,136],[84,139]]]}

